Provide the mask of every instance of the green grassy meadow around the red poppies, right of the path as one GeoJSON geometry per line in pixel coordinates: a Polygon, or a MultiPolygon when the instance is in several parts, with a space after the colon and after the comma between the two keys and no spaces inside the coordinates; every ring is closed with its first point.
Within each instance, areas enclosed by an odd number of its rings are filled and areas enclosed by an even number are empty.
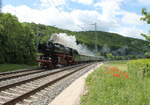
{"type": "Polygon", "coordinates": [[[126,62],[111,62],[97,69],[86,80],[87,93],[80,105],[150,105],[150,78],[139,79],[130,74],[126,62]],[[115,66],[127,71],[128,78],[106,73],[115,66]]]}

